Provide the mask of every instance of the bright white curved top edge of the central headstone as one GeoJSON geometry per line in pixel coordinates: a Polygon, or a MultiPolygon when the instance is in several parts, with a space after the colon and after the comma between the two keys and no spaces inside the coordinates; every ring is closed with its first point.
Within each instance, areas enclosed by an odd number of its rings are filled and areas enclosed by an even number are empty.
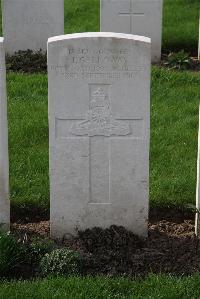
{"type": "Polygon", "coordinates": [[[64,41],[64,40],[75,40],[81,38],[98,38],[98,37],[107,37],[107,38],[116,38],[116,39],[127,39],[132,41],[139,41],[145,44],[151,44],[151,39],[149,37],[125,34],[125,33],[115,33],[115,32],[86,32],[86,33],[73,33],[53,36],[48,39],[48,44],[64,41]]]}

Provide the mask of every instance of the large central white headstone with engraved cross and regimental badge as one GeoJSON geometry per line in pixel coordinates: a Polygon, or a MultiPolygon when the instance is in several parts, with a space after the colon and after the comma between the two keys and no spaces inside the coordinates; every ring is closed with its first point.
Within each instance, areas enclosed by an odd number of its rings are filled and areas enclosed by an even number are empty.
{"type": "Polygon", "coordinates": [[[150,39],[48,41],[51,235],[122,225],[146,236],[150,39]]]}

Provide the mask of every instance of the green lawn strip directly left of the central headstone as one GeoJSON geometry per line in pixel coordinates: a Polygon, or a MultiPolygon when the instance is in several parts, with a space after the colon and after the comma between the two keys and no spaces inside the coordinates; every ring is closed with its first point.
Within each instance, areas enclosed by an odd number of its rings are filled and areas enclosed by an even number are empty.
{"type": "Polygon", "coordinates": [[[11,200],[48,206],[47,76],[8,75],[11,200]]]}

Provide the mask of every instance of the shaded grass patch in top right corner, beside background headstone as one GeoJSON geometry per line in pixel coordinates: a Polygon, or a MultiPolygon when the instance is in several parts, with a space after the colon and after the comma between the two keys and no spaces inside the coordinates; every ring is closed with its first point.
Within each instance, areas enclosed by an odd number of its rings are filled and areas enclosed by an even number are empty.
{"type": "Polygon", "coordinates": [[[164,0],[163,51],[197,55],[199,9],[199,0],[164,0]]]}

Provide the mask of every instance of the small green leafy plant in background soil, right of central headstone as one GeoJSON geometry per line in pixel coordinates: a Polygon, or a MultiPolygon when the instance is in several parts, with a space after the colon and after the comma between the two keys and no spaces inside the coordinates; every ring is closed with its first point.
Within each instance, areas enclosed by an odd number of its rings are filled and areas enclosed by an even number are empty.
{"type": "Polygon", "coordinates": [[[186,70],[192,68],[193,63],[189,54],[181,50],[177,53],[170,53],[164,63],[170,69],[186,70]]]}

